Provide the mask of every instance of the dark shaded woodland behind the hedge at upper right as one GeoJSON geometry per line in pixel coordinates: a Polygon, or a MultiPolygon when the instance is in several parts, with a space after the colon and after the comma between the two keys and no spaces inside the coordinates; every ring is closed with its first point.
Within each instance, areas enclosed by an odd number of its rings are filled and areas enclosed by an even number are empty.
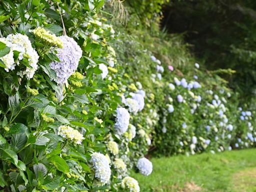
{"type": "Polygon", "coordinates": [[[171,0],[163,7],[161,26],[184,33],[194,54],[208,69],[231,68],[224,75],[243,96],[256,85],[255,0],[171,0]]]}

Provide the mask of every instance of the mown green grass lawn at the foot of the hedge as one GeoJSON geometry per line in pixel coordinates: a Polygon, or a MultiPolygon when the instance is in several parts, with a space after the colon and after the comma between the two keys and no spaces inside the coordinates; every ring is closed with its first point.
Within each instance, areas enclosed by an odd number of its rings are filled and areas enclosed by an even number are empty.
{"type": "Polygon", "coordinates": [[[140,191],[256,191],[256,149],[150,160],[151,175],[132,174],[140,191]]]}

